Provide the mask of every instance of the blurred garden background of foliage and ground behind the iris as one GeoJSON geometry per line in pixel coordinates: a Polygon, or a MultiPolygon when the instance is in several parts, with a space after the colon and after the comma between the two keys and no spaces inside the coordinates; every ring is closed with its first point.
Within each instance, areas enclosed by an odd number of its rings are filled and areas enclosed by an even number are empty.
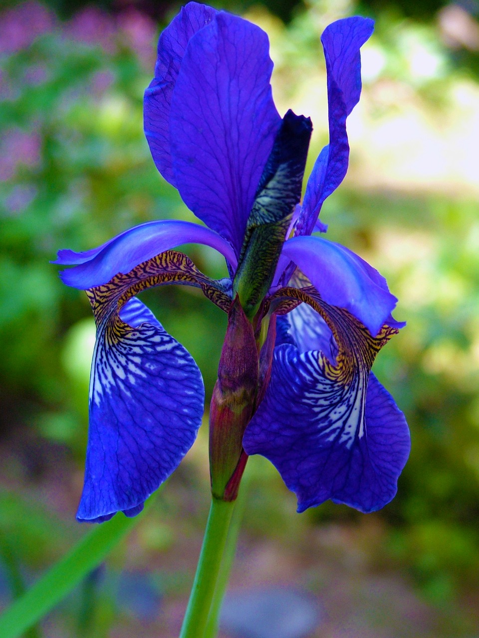
{"type": "MultiPolygon", "coordinates": [[[[348,121],[350,169],[321,217],[327,236],[377,267],[399,297],[395,316],[407,327],[374,371],[413,443],[397,497],[367,516],[331,503],[298,515],[272,466],[250,459],[232,595],[300,592],[317,620],[298,638],[478,636],[479,4],[213,4],[268,32],[278,110],[314,123],[307,174],[328,140],[319,36],[340,17],[376,19],[348,121]]],[[[86,295],[61,285],[49,260],[150,219],[193,218],[142,133],[158,33],[178,9],[0,3],[2,605],[88,529],[75,511],[95,329],[86,295]]],[[[222,276],[208,249],[190,255],[222,276]]],[[[208,405],[224,316],[183,287],[142,298],[201,367],[208,405]]],[[[132,535],[29,635],[178,635],[208,511],[207,456],[205,424],[132,535]]]]}

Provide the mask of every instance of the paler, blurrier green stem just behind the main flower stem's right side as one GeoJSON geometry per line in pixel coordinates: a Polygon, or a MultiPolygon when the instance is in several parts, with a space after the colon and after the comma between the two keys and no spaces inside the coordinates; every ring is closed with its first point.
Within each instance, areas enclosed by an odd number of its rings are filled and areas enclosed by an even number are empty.
{"type": "Polygon", "coordinates": [[[229,526],[226,547],[220,567],[220,575],[218,576],[215,595],[213,596],[213,602],[211,604],[211,609],[209,610],[208,624],[206,625],[204,638],[216,638],[218,633],[221,605],[228,586],[229,574],[234,563],[239,528],[241,527],[241,520],[243,519],[243,513],[246,506],[246,495],[248,492],[247,487],[249,483],[248,476],[249,475],[245,475],[241,482],[241,487],[239,488],[238,499],[236,500],[236,507],[234,508],[231,524],[229,526]]]}

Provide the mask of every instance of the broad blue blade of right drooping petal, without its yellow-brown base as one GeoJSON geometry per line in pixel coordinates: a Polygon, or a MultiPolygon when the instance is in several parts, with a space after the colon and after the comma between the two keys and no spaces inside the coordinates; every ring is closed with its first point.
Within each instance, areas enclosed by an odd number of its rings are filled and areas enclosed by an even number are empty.
{"type": "Polygon", "coordinates": [[[270,389],[243,447],[270,459],[298,496],[298,512],[328,499],[361,512],[380,509],[395,496],[409,455],[404,415],[372,373],[367,391],[357,383],[346,400],[324,380],[314,355],[277,348],[270,389]],[[356,394],[365,398],[362,431],[349,421],[356,394]]]}

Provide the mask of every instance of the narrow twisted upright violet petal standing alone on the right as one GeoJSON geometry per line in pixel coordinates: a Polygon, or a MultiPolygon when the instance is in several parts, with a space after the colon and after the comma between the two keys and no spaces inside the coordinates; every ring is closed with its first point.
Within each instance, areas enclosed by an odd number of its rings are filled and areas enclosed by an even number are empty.
{"type": "Polygon", "coordinates": [[[330,143],[319,154],[306,188],[295,235],[310,235],[326,197],[343,181],[349,163],[346,118],[361,94],[360,48],[374,29],[369,18],[337,20],[324,29],[321,42],[328,76],[330,143]]]}

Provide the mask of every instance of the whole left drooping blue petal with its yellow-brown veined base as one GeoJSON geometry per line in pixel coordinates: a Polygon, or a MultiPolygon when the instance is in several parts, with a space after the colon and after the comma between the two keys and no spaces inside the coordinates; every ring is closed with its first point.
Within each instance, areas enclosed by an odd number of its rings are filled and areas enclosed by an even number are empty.
{"type": "Polygon", "coordinates": [[[87,290],[96,321],[81,521],[137,514],[178,466],[201,424],[204,389],[192,357],[137,299],[145,288],[196,281],[231,300],[181,253],[162,253],[87,290]]]}

